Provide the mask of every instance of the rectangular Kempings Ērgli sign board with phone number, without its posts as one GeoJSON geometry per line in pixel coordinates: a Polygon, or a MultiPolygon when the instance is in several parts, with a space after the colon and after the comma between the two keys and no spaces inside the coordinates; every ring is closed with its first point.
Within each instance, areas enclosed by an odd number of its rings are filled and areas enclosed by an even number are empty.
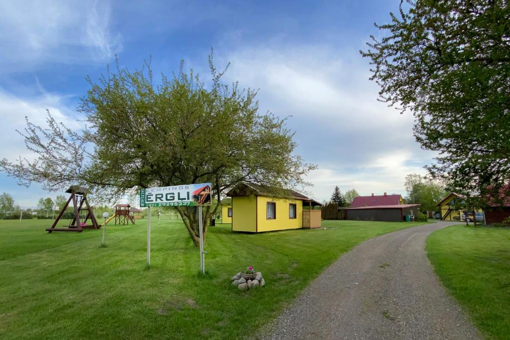
{"type": "Polygon", "coordinates": [[[211,205],[211,184],[189,184],[140,190],[140,206],[211,205]]]}

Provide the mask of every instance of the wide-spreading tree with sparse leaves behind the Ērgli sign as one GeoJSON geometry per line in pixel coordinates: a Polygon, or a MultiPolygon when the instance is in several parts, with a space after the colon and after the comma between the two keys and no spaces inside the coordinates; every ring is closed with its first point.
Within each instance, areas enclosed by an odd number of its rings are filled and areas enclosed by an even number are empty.
{"type": "MultiPolygon", "coordinates": [[[[260,114],[257,92],[223,84],[209,59],[212,82],[206,86],[193,70],[156,80],[150,63],[140,70],[108,69],[91,88],[79,111],[88,128],[72,131],[48,114],[48,127],[27,122],[23,136],[35,161],[0,164],[21,184],[42,182],[48,190],[70,184],[125,195],[139,188],[211,182],[212,194],[241,181],[283,188],[307,184],[315,166],[294,153],[286,119],[260,114]],[[89,150],[92,149],[92,152],[89,150]]],[[[203,232],[219,205],[203,216],[203,232]]],[[[198,221],[193,207],[177,207],[195,245],[198,221]]]]}

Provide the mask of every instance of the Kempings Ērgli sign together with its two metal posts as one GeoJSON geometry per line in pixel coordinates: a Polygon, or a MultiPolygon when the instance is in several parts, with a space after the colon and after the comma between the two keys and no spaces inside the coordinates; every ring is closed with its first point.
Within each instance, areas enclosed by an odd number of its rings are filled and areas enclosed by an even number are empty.
{"type": "Polygon", "coordinates": [[[211,205],[211,183],[158,187],[140,190],[140,207],[147,207],[147,265],[150,266],[150,207],[151,206],[198,206],[198,229],[200,236],[200,272],[205,274],[203,251],[202,205],[211,205]]]}

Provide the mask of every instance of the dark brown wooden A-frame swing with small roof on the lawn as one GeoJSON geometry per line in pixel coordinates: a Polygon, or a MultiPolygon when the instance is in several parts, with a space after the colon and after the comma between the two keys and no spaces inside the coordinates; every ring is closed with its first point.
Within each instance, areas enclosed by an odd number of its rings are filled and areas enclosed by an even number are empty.
{"type": "Polygon", "coordinates": [[[66,193],[71,194],[67,202],[62,207],[59,215],[55,219],[51,228],[46,228],[46,231],[51,233],[52,231],[82,231],[83,229],[99,229],[101,226],[97,223],[97,220],[92,212],[92,207],[87,201],[87,189],[78,186],[71,186],[66,190],[66,193]],[[66,208],[69,206],[69,203],[72,201],[72,206],[74,208],[74,214],[72,222],[66,226],[66,228],[57,228],[57,223],[64,215],[66,208]],[[84,206],[85,204],[85,206],[84,206]],[[87,212],[85,218],[80,218],[81,212],[87,212]],[[87,225],[87,221],[90,219],[90,223],[87,225]],[[82,222],[83,221],[83,222],[82,222]]]}

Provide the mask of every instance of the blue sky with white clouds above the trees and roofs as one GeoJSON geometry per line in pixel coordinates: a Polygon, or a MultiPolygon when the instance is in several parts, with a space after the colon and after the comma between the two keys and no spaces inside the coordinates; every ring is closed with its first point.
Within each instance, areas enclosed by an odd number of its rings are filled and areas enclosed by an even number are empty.
{"type": "MultiPolygon", "coordinates": [[[[0,159],[31,157],[16,129],[25,116],[44,124],[46,110],[71,128],[83,126],[80,97],[112,64],[155,74],[185,60],[207,77],[214,48],[225,81],[259,89],[260,112],[291,116],[296,153],[318,169],[307,188],[318,200],[335,186],[362,195],[405,194],[404,177],[425,174],[435,154],[412,133],[414,118],[377,101],[366,49],[374,22],[389,21],[399,0],[272,2],[14,2],[0,0],[0,159]]],[[[20,187],[0,172],[0,193],[35,207],[40,185],[20,187]]]]}

